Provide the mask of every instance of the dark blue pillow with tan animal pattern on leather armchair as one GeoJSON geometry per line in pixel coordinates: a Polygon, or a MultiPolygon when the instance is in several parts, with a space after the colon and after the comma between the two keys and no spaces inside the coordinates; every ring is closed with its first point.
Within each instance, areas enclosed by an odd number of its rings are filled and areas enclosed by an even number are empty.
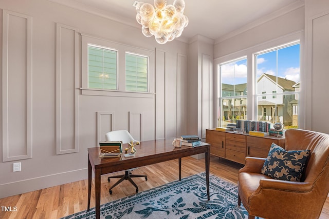
{"type": "Polygon", "coordinates": [[[276,180],[300,182],[309,150],[286,151],[272,143],[262,173],[276,180]]]}

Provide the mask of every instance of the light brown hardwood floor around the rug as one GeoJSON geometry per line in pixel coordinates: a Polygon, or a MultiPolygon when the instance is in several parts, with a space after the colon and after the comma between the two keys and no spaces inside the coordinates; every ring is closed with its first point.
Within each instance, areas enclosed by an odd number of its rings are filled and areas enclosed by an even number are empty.
{"type": "MultiPolygon", "coordinates": [[[[210,173],[236,184],[237,172],[242,166],[241,164],[211,156],[210,173]]],[[[204,171],[204,159],[196,160],[191,157],[182,158],[182,177],[204,171]]],[[[139,191],[144,191],[178,180],[178,161],[173,160],[140,167],[138,170],[135,170],[135,173],[148,175],[148,181],[145,181],[144,178],[134,178],[139,191]]],[[[116,174],[121,174],[121,172],[112,175],[116,174]]],[[[128,181],[123,181],[119,186],[113,189],[113,194],[110,195],[108,193],[108,188],[113,182],[116,182],[116,180],[113,180],[112,183],[108,183],[108,175],[103,175],[101,179],[101,204],[135,194],[135,187],[128,181]]],[[[60,218],[86,210],[88,195],[87,186],[87,180],[83,180],[2,198],[0,199],[0,206],[2,206],[0,209],[0,218],[60,218]],[[5,211],[3,207],[7,207],[7,211],[5,211]],[[12,211],[8,211],[8,207],[11,207],[12,211]],[[17,209],[16,211],[14,211],[14,207],[17,209]]],[[[93,185],[90,207],[95,206],[94,194],[93,185]]],[[[324,204],[320,218],[329,218],[329,198],[327,198],[324,204]]]]}

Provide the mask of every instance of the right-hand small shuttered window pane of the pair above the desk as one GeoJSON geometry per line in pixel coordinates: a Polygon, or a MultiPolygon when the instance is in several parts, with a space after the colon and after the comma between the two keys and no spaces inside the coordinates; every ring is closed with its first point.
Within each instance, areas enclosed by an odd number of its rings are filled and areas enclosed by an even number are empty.
{"type": "Polygon", "coordinates": [[[149,58],[132,53],[125,54],[125,89],[148,92],[149,58]]]}

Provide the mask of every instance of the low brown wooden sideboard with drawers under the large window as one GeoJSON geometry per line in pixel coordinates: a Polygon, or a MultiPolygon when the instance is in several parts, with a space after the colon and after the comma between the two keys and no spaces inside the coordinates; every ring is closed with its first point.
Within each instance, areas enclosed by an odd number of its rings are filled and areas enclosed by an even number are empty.
{"type": "Polygon", "coordinates": [[[269,148],[275,143],[284,148],[285,138],[275,136],[253,136],[246,133],[206,130],[206,142],[211,144],[210,154],[245,164],[246,156],[267,157],[269,148]]]}

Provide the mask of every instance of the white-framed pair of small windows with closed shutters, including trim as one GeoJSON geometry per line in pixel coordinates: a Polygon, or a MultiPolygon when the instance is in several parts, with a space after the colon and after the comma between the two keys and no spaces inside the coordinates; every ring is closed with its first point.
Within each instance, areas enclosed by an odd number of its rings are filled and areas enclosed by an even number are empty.
{"type": "Polygon", "coordinates": [[[154,98],[154,50],[81,34],[81,60],[82,95],[154,98]]]}

